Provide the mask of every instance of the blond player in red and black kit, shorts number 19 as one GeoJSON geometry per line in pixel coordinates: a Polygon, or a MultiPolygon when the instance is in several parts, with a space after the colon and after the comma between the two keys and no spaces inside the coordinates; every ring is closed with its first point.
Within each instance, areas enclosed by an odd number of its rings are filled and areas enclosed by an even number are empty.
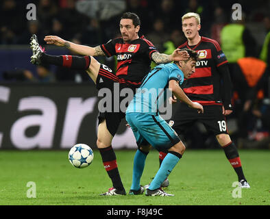
{"type": "MultiPolygon", "coordinates": [[[[232,82],[228,61],[219,43],[199,36],[199,29],[201,29],[199,14],[193,12],[184,14],[182,31],[187,41],[178,48],[193,49],[199,55],[200,60],[196,64],[195,73],[186,79],[181,87],[191,101],[204,106],[204,114],[197,114],[195,110],[180,103],[169,124],[180,134],[197,121],[203,123],[207,131],[214,134],[224,150],[225,156],[238,175],[239,186],[249,188],[238,150],[228,134],[225,120],[225,116],[232,113],[232,82]]],[[[166,152],[160,152],[160,162],[166,155],[166,152]]],[[[169,185],[168,179],[163,185],[169,185]]]]}

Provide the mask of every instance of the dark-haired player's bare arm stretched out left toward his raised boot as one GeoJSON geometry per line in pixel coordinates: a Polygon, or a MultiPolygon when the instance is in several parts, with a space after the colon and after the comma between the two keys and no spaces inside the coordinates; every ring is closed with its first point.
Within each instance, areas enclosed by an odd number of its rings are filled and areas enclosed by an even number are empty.
{"type": "Polygon", "coordinates": [[[71,51],[80,55],[105,55],[105,53],[103,53],[103,51],[101,50],[100,46],[88,47],[80,44],[75,44],[73,42],[62,39],[59,36],[45,36],[44,40],[45,42],[47,42],[47,44],[54,44],[58,47],[66,47],[67,49],[70,49],[71,51]]]}

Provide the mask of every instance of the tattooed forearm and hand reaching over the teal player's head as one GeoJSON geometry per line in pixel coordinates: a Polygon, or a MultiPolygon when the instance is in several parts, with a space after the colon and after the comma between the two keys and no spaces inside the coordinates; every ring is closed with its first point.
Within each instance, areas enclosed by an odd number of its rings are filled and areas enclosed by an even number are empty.
{"type": "Polygon", "coordinates": [[[161,63],[169,63],[173,61],[182,61],[188,60],[189,55],[187,51],[181,51],[180,49],[175,49],[171,55],[167,55],[164,53],[155,52],[152,54],[152,60],[156,62],[156,64],[161,63]]]}

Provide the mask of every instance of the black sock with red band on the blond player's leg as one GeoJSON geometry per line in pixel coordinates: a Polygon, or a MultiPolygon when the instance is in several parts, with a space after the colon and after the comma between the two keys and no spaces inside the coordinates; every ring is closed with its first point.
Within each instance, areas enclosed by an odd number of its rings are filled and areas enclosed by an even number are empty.
{"type": "Polygon", "coordinates": [[[242,179],[246,181],[241,165],[241,159],[239,157],[238,150],[234,142],[230,142],[222,148],[225,152],[227,159],[229,160],[230,164],[232,165],[238,176],[238,181],[241,181],[242,179]]]}

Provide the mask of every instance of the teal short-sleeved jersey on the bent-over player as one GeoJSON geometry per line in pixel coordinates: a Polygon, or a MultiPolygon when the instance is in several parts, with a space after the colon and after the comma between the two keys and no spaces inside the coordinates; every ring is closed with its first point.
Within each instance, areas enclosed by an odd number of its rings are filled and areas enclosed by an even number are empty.
{"type": "Polygon", "coordinates": [[[169,81],[184,81],[184,73],[176,64],[160,64],[153,68],[142,81],[134,98],[127,107],[126,114],[140,112],[157,115],[158,108],[167,100],[169,81]]]}

